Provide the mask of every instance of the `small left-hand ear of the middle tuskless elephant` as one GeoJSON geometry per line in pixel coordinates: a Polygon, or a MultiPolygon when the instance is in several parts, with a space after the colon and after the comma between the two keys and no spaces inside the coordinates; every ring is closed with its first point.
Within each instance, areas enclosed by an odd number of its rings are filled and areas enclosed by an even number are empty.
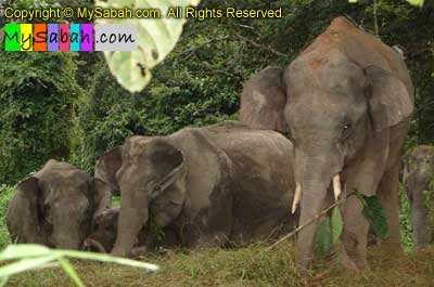
{"type": "Polygon", "coordinates": [[[116,180],[116,172],[122,166],[122,146],[116,146],[103,154],[99,158],[94,171],[94,178],[108,184],[113,191],[120,190],[116,180]]]}

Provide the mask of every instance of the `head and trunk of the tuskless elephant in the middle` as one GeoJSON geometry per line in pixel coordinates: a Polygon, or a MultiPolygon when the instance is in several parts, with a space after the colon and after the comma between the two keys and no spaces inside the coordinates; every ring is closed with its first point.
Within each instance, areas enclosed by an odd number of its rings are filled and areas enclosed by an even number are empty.
{"type": "Polygon", "coordinates": [[[164,138],[132,136],[105,153],[97,177],[120,191],[116,256],[130,256],[138,234],[150,218],[166,226],[182,211],[186,165],[182,153],[164,138]]]}

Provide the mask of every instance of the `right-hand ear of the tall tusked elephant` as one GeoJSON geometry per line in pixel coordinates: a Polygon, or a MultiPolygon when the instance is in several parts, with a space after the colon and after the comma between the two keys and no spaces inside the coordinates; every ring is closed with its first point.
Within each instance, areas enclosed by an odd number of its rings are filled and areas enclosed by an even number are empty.
{"type": "Polygon", "coordinates": [[[369,108],[375,131],[398,125],[413,112],[412,88],[376,66],[366,68],[369,108]]]}

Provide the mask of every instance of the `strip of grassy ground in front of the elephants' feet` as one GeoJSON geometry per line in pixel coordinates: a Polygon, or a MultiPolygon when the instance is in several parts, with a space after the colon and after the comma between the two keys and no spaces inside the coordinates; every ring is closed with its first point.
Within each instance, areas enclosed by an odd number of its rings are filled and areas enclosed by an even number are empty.
{"type": "MultiPolygon", "coordinates": [[[[148,262],[162,270],[145,274],[136,269],[95,262],[74,261],[87,286],[294,286],[294,287],[434,287],[434,247],[419,253],[393,257],[379,247],[369,248],[370,268],[349,272],[332,263],[311,273],[294,268],[293,247],[284,243],[275,250],[260,253],[265,245],[240,249],[199,249],[151,255],[148,262]]],[[[24,273],[8,286],[73,286],[59,269],[24,273]]]]}

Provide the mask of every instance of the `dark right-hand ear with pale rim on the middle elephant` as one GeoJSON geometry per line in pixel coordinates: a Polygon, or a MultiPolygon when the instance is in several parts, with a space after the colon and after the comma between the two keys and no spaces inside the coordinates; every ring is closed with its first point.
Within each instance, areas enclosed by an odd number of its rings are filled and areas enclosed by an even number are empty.
{"type": "MultiPolygon", "coordinates": [[[[186,174],[184,159],[181,151],[164,140],[151,141],[146,146],[146,156],[158,174],[156,188],[151,195],[151,198],[155,198],[186,174]]],[[[174,196],[175,194],[170,195],[174,196]]],[[[183,200],[183,188],[175,198],[183,200]]]]}

